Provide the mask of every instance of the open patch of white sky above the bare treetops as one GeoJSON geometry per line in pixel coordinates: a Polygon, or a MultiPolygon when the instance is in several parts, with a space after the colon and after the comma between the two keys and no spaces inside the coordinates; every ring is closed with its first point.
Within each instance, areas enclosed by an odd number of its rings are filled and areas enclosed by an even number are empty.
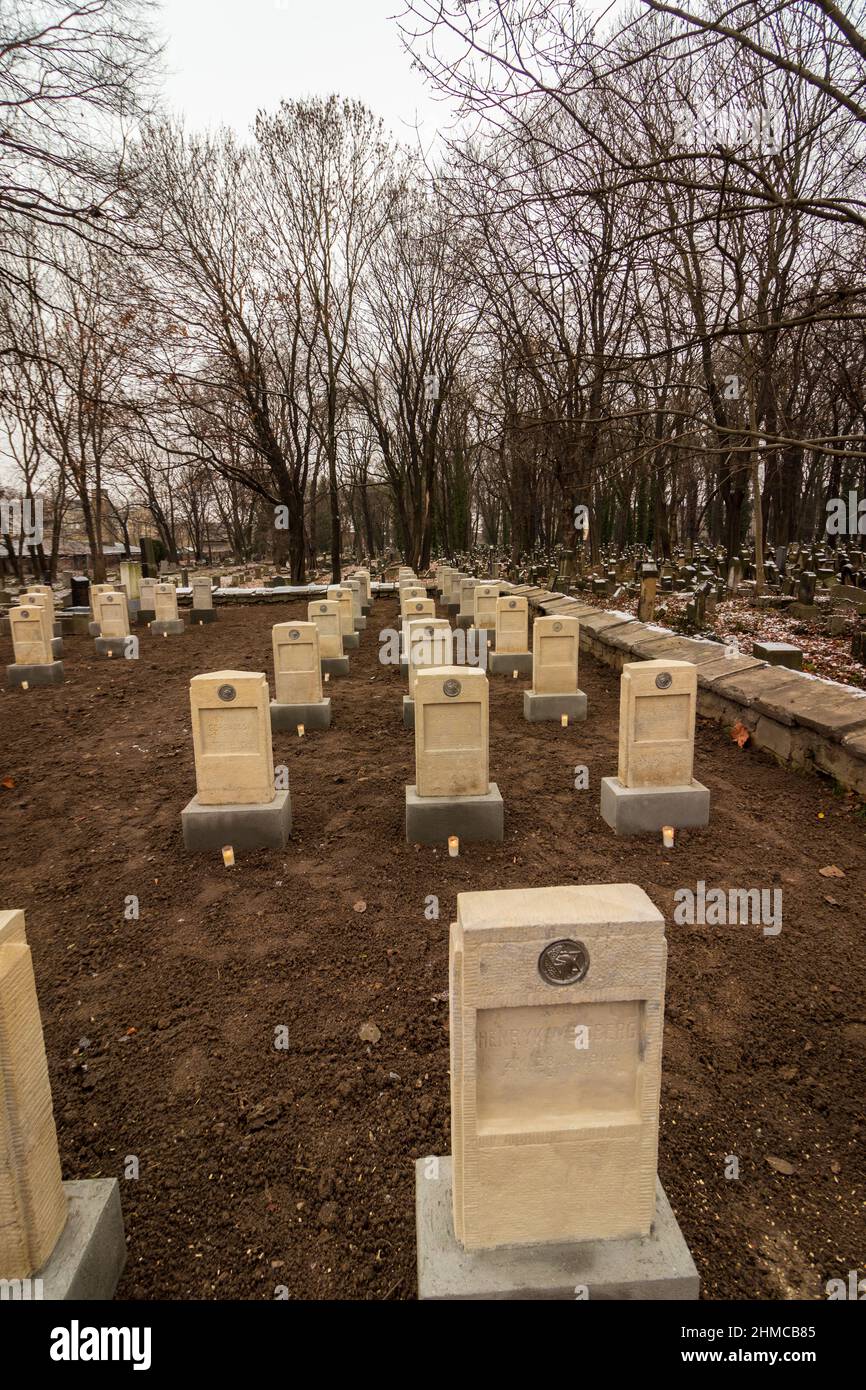
{"type": "Polygon", "coordinates": [[[360,97],[398,138],[430,142],[450,124],[413,72],[396,22],[402,0],[163,0],[167,104],[188,125],[246,135],[281,97],[360,97]]]}

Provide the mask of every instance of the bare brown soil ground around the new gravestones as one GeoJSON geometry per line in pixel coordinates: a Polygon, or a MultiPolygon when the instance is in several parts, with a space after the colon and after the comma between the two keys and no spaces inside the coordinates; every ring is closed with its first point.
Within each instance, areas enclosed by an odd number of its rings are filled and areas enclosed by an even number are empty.
{"type": "Polygon", "coordinates": [[[562,883],[637,883],[666,916],[659,1173],[703,1297],[823,1298],[862,1268],[856,798],[698,720],[709,827],[673,852],[617,840],[599,781],[619,676],[582,656],[588,719],[569,730],[525,723],[528,682],[491,678],[505,844],[407,845],[414,744],[406,680],[378,662],[396,602],[378,599],[350,676],[328,682],[331,731],[274,737],[288,849],[231,869],[186,855],[189,680],[272,685],[271,626],[289,617],[306,600],[222,607],[182,637],[143,632],[138,662],[67,638],[63,687],[3,692],[4,903],[26,910],[64,1177],[121,1180],[118,1297],[411,1298],[413,1159],[450,1150],[456,894],[562,883]],[[674,891],[699,880],[781,888],[781,933],[674,923],[674,891]]]}

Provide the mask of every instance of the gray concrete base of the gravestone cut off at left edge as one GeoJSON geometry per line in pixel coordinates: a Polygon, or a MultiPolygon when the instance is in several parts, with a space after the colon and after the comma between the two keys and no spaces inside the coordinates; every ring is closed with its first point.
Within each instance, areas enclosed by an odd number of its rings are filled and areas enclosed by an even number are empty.
{"type": "Polygon", "coordinates": [[[60,1240],[33,1279],[51,1301],[108,1302],[126,1264],[117,1177],[64,1183],[70,1213],[60,1240]]]}

